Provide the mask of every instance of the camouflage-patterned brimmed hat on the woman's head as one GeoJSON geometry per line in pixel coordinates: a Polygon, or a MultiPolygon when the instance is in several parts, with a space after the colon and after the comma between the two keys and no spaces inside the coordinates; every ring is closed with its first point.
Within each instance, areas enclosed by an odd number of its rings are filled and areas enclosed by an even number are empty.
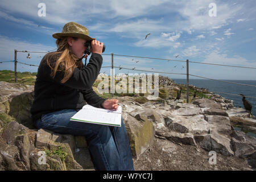
{"type": "Polygon", "coordinates": [[[59,39],[62,36],[71,36],[71,37],[81,38],[81,39],[85,39],[85,40],[94,40],[95,39],[95,38],[91,38],[89,36],[88,28],[82,26],[79,23],[75,23],[75,22],[66,23],[64,25],[61,33],[56,33],[56,34],[53,34],[52,36],[55,39],[59,39]]]}

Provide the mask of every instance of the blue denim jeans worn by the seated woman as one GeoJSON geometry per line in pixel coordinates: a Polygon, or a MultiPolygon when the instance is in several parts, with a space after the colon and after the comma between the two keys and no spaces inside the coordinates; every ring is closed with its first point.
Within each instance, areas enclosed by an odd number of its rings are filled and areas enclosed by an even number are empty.
{"type": "Polygon", "coordinates": [[[131,148],[125,125],[106,126],[70,121],[78,110],[64,109],[42,115],[36,121],[38,129],[47,129],[60,134],[83,135],[88,143],[96,170],[134,170],[131,148]]]}

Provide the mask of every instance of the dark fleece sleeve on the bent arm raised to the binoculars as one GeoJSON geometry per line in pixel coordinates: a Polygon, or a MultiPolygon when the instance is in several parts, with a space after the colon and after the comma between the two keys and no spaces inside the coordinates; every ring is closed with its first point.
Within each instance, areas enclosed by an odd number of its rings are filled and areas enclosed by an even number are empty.
{"type": "MultiPolygon", "coordinates": [[[[82,69],[75,68],[72,76],[63,85],[69,86],[74,89],[84,90],[86,88],[92,88],[94,81],[100,73],[102,65],[102,56],[98,53],[92,53],[89,63],[82,69]]],[[[60,84],[63,79],[64,73],[57,72],[53,81],[60,84]]]]}

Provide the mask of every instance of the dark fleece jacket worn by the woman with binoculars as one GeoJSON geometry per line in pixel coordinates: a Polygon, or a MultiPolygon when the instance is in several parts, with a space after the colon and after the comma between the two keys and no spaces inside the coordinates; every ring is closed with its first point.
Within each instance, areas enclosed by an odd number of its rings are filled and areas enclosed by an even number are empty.
{"type": "MultiPolygon", "coordinates": [[[[50,58],[51,65],[54,65],[59,56],[50,58]]],[[[56,72],[55,78],[50,76],[51,68],[47,65],[46,58],[47,55],[43,57],[36,75],[35,99],[30,110],[34,124],[42,114],[63,109],[80,110],[86,102],[94,107],[101,107],[105,99],[92,89],[102,65],[100,54],[92,53],[86,67],[75,68],[72,76],[64,84],[60,83],[64,77],[63,72],[56,72]]]]}

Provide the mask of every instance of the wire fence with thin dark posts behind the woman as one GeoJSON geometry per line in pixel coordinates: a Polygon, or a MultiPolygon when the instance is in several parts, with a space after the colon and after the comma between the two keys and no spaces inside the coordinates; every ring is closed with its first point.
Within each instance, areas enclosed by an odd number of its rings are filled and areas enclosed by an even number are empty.
{"type": "MultiPolygon", "coordinates": [[[[55,49],[53,49],[55,50],[55,49]]],[[[51,50],[51,51],[53,51],[51,50]]],[[[15,67],[15,82],[16,82],[16,63],[19,64],[23,64],[23,65],[28,65],[31,67],[39,67],[39,65],[34,65],[34,64],[27,64],[27,63],[23,63],[20,61],[17,61],[16,56],[17,56],[17,52],[23,52],[23,53],[48,53],[50,51],[47,52],[39,52],[39,51],[17,51],[16,49],[14,50],[14,57],[15,60],[11,60],[11,61],[0,61],[0,63],[6,63],[6,62],[14,62],[14,67],[15,67]]],[[[196,63],[196,64],[207,64],[207,65],[214,65],[214,66],[221,66],[221,67],[233,67],[233,68],[246,68],[246,69],[256,69],[254,67],[242,67],[242,66],[235,66],[235,65],[225,65],[225,64],[213,64],[213,63],[202,63],[202,62],[197,62],[197,61],[189,61],[189,60],[174,60],[174,59],[162,59],[162,58],[158,58],[158,57],[143,57],[143,56],[131,56],[131,55],[118,55],[118,54],[108,54],[108,53],[104,53],[102,55],[111,55],[112,56],[112,65],[111,66],[105,66],[105,67],[101,67],[101,68],[119,68],[119,69],[126,69],[126,70],[132,70],[132,71],[140,71],[140,72],[151,72],[151,73],[164,73],[164,74],[170,74],[170,75],[186,75],[187,76],[187,102],[188,102],[188,86],[189,86],[189,76],[192,77],[199,77],[199,78],[204,78],[204,79],[208,79],[208,80],[213,80],[213,81],[219,81],[219,82],[226,82],[229,84],[236,84],[236,85],[243,85],[243,86],[252,86],[252,87],[256,87],[256,85],[250,85],[250,84],[241,84],[238,82],[231,82],[231,81],[225,81],[225,80],[217,80],[214,78],[208,78],[208,77],[203,77],[203,76],[197,76],[197,75],[192,75],[189,74],[189,69],[188,69],[188,65],[189,63],[196,63]],[[136,57],[136,58],[142,58],[142,59],[154,59],[154,60],[163,60],[163,61],[177,61],[177,62],[183,62],[183,63],[187,63],[187,73],[171,73],[171,72],[160,72],[160,71],[152,71],[152,70],[144,70],[144,69],[135,69],[135,68],[124,68],[124,67],[114,67],[114,56],[122,56],[122,57],[136,57]]],[[[112,75],[113,76],[113,75],[112,75]]],[[[218,91],[212,91],[213,93],[222,93],[222,94],[228,94],[230,96],[239,96],[242,97],[239,94],[233,94],[233,93],[224,93],[224,92],[218,92],[218,91]]],[[[250,97],[250,96],[245,96],[247,98],[254,98],[256,99],[256,97],[250,97]]]]}

